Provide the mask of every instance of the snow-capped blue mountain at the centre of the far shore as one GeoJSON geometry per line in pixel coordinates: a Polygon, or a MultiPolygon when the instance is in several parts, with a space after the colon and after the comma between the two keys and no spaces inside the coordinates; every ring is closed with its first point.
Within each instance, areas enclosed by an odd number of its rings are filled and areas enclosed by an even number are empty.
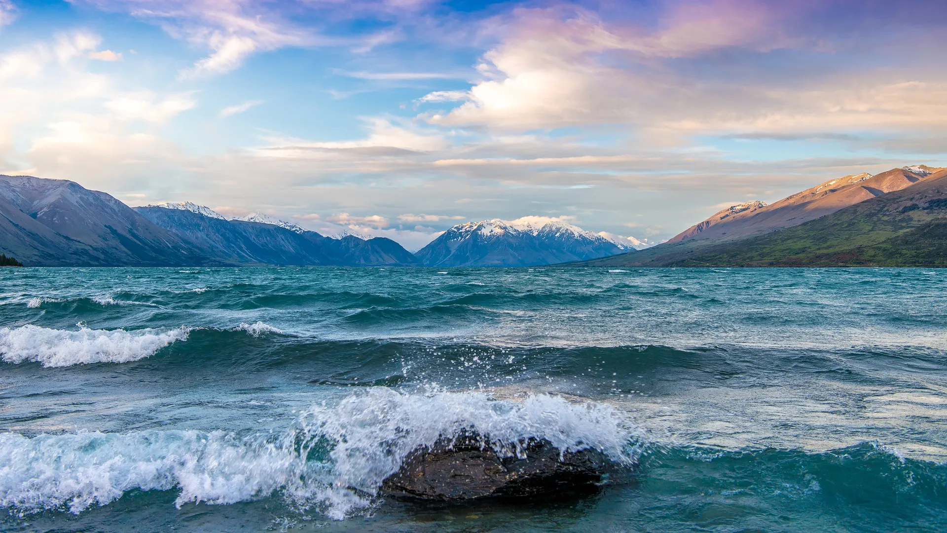
{"type": "Polygon", "coordinates": [[[594,259],[625,249],[578,226],[524,217],[458,224],[415,255],[429,267],[533,267],[594,259]]]}

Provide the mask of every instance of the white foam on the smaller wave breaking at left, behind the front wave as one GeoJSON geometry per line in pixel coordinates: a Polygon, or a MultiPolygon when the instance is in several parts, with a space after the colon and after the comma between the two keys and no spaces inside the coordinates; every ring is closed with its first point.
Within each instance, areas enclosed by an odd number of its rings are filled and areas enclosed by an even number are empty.
{"type": "Polygon", "coordinates": [[[127,362],[147,358],[175,340],[187,340],[190,328],[49,329],[27,324],[0,328],[0,355],[9,363],[37,361],[45,367],[92,362],[127,362]]]}

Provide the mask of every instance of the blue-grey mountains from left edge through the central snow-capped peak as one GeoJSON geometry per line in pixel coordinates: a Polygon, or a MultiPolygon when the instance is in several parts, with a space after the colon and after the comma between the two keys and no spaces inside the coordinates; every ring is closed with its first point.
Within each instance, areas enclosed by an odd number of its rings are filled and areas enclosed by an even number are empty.
{"type": "Polygon", "coordinates": [[[457,225],[412,254],[384,237],[335,238],[264,213],[227,219],[191,202],[130,208],[68,180],[0,175],[0,252],[27,266],[519,267],[644,243],[561,222],[457,225]]]}

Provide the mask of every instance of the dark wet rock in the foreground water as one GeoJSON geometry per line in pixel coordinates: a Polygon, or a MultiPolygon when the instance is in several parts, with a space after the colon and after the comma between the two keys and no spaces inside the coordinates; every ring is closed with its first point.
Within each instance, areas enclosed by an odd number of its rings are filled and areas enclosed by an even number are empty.
{"type": "Polygon", "coordinates": [[[607,459],[598,451],[560,453],[545,440],[531,441],[526,457],[501,457],[482,439],[440,439],[409,454],[402,469],[384,480],[395,498],[460,501],[598,490],[607,459]]]}

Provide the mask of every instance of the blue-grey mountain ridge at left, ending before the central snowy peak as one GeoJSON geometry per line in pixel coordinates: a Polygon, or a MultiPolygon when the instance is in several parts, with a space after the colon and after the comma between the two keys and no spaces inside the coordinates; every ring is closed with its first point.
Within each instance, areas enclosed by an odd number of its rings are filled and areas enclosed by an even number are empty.
{"type": "Polygon", "coordinates": [[[226,220],[191,202],[132,209],[73,181],[0,175],[0,253],[27,266],[420,265],[390,239],[335,240],[265,216],[226,220]]]}

